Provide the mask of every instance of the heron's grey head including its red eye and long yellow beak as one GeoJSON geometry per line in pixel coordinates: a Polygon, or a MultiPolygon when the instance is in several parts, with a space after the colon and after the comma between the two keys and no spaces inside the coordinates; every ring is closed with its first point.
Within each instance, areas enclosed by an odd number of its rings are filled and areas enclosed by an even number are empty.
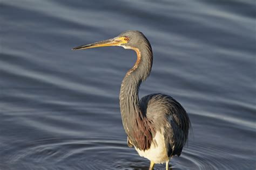
{"type": "Polygon", "coordinates": [[[106,47],[106,46],[122,46],[126,49],[137,48],[142,42],[147,41],[146,37],[142,32],[139,31],[125,31],[119,34],[119,36],[95,42],[92,44],[82,45],[73,48],[76,49],[87,49],[87,48],[96,48],[96,47],[106,47]]]}

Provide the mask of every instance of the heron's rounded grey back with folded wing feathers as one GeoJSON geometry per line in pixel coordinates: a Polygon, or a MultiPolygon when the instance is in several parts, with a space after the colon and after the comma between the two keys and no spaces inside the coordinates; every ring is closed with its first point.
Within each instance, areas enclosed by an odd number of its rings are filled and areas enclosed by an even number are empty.
{"type": "Polygon", "coordinates": [[[152,122],[154,129],[163,134],[168,157],[179,156],[190,128],[185,109],[171,96],[164,94],[144,96],[140,100],[140,109],[152,122]]]}

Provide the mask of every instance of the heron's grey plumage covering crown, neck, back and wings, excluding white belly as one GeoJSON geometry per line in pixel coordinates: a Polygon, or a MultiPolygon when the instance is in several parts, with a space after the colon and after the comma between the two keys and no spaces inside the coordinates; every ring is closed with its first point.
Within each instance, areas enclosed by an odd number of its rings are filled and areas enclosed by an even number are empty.
{"type": "Polygon", "coordinates": [[[130,46],[138,48],[141,53],[137,68],[130,69],[124,77],[119,97],[123,125],[129,138],[128,145],[147,150],[156,131],[163,128],[167,155],[180,155],[190,128],[185,109],[171,96],[164,94],[147,95],[139,102],[140,83],[145,81],[151,72],[152,48],[139,31],[127,31],[119,36],[130,37],[133,40],[130,46]]]}

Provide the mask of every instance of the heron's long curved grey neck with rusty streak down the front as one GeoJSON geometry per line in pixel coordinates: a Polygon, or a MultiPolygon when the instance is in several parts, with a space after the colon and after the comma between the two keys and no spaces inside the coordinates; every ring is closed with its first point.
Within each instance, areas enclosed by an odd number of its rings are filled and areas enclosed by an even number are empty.
{"type": "MultiPolygon", "coordinates": [[[[133,138],[132,143],[142,150],[150,147],[151,140],[145,139],[147,133],[151,133],[146,127],[147,119],[140,110],[139,87],[146,80],[151,72],[153,55],[150,46],[142,48],[131,48],[137,53],[135,65],[126,73],[120,89],[120,111],[122,115],[123,126],[129,138],[133,138]],[[143,139],[141,139],[143,138],[143,139]]],[[[152,136],[149,134],[148,136],[152,136]]]]}

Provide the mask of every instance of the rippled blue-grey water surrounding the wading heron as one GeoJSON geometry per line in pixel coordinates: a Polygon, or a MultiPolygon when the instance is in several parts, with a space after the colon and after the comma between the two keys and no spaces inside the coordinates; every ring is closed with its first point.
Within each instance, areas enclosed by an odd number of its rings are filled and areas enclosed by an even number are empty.
{"type": "MultiPolygon", "coordinates": [[[[255,169],[254,1],[1,1],[0,169],[148,169],[126,145],[121,47],[72,47],[140,30],[154,52],[140,97],[169,94],[193,131],[172,169],[255,169]]],[[[164,169],[165,165],[156,165],[164,169]]]]}

